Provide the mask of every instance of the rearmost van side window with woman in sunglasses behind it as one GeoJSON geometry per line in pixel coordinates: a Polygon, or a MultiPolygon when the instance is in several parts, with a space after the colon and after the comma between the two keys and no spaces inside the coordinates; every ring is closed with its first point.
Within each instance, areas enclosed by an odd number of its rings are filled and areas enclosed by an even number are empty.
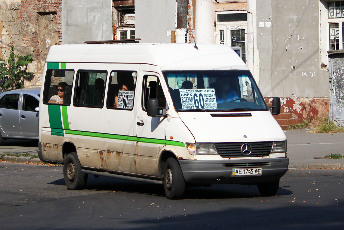
{"type": "Polygon", "coordinates": [[[48,69],[46,71],[43,103],[69,106],[72,98],[74,70],[48,69]]]}

